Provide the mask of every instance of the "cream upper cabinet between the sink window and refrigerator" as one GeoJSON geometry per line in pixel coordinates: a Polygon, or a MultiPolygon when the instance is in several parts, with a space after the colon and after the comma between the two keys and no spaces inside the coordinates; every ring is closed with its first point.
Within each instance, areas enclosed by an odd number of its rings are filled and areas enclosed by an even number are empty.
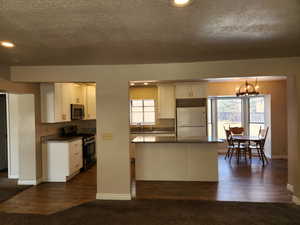
{"type": "Polygon", "coordinates": [[[158,117],[160,119],[175,118],[175,87],[162,84],[158,86],[158,117]]]}

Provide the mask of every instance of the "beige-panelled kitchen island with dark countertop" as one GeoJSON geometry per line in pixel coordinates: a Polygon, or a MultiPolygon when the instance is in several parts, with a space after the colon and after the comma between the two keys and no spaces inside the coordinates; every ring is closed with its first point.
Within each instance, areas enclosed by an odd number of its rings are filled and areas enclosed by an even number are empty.
{"type": "Polygon", "coordinates": [[[138,136],[132,141],[136,180],[218,181],[218,145],[208,137],[138,136]]]}

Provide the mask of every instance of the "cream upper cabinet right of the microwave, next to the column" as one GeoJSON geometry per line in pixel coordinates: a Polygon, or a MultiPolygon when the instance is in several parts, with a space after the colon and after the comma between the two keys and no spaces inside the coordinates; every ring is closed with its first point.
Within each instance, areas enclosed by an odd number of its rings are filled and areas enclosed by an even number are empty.
{"type": "Polygon", "coordinates": [[[96,86],[84,87],[85,119],[96,119],[96,86]]]}

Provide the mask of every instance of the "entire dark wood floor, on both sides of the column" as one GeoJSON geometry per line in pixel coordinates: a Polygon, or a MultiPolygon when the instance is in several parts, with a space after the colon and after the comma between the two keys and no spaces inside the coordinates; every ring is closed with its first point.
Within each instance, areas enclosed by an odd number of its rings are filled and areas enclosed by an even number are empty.
{"type": "MultiPolygon", "coordinates": [[[[0,204],[8,213],[52,214],[95,200],[96,166],[64,183],[44,183],[31,187],[0,204]]],[[[251,202],[290,202],[286,190],[287,162],[273,160],[266,167],[229,163],[219,157],[219,183],[134,182],[137,199],[193,199],[251,202]]]]}

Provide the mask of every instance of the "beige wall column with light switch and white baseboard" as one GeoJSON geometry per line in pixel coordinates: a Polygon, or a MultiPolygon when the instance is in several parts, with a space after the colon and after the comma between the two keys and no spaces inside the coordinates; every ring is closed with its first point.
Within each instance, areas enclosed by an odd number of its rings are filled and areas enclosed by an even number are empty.
{"type": "Polygon", "coordinates": [[[97,82],[97,199],[130,200],[128,81],[97,82]]]}

